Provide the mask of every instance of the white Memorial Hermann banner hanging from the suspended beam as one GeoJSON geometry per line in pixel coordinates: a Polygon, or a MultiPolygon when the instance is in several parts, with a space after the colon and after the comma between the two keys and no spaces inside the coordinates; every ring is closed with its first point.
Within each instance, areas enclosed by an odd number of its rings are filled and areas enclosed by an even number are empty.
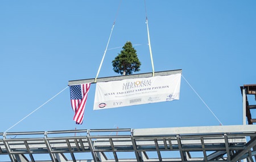
{"type": "Polygon", "coordinates": [[[94,110],[179,100],[181,74],[96,84],[94,110]]]}

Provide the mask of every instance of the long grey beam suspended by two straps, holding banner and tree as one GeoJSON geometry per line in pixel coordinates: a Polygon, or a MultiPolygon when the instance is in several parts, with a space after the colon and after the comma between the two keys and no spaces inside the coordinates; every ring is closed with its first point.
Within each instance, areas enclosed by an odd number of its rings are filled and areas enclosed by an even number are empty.
{"type": "MultiPolygon", "coordinates": [[[[165,76],[171,74],[181,74],[182,70],[169,70],[169,71],[159,71],[155,72],[154,76],[165,76]]],[[[134,78],[148,78],[151,77],[152,73],[143,73],[143,74],[133,74],[133,75],[121,75],[121,76],[110,76],[104,78],[97,78],[97,82],[109,82],[115,80],[123,80],[123,79],[134,79],[134,78]]],[[[85,83],[94,83],[95,78],[92,79],[81,79],[81,80],[70,80],[68,82],[68,86],[77,85],[77,84],[85,84],[85,83]]]]}

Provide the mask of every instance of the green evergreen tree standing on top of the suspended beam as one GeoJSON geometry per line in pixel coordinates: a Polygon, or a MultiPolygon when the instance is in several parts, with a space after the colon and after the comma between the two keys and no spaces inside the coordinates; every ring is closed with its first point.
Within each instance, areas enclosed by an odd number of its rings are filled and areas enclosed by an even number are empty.
{"type": "Polygon", "coordinates": [[[121,52],[118,53],[118,56],[112,61],[114,72],[122,75],[129,75],[139,71],[141,62],[139,61],[136,52],[137,51],[133,48],[131,42],[127,41],[121,52]]]}

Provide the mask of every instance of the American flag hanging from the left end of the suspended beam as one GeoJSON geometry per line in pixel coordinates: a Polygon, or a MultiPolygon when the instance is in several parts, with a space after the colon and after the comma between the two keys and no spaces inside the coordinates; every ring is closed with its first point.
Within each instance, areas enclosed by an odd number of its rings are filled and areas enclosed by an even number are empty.
{"type": "Polygon", "coordinates": [[[73,120],[76,121],[77,124],[82,124],[82,121],[84,120],[84,110],[85,110],[85,104],[86,104],[88,92],[90,89],[90,83],[69,86],[69,88],[70,88],[71,106],[73,111],[75,112],[75,116],[73,120]]]}

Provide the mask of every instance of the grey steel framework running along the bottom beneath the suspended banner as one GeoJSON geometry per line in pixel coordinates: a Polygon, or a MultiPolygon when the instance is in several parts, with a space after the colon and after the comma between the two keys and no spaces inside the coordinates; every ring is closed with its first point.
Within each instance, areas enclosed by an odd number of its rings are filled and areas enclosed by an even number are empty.
{"type": "Polygon", "coordinates": [[[9,155],[13,162],[254,161],[255,131],[255,125],[236,125],[0,133],[0,159],[9,155]]]}

